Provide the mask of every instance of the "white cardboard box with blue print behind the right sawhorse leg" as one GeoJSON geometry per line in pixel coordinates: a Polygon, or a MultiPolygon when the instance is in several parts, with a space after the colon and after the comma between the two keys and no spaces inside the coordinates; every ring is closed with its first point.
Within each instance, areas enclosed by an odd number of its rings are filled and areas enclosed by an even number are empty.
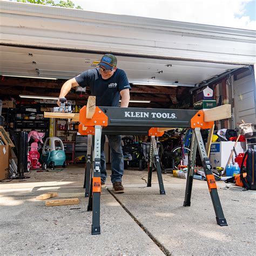
{"type": "MultiPolygon", "coordinates": [[[[225,168],[234,144],[235,142],[212,143],[210,157],[209,157],[212,167],[221,166],[225,168]]],[[[237,151],[237,154],[244,153],[245,150],[246,150],[245,142],[238,142],[237,146],[235,147],[235,151],[237,151]]],[[[234,157],[235,157],[235,153],[233,153],[233,159],[234,157]]]]}

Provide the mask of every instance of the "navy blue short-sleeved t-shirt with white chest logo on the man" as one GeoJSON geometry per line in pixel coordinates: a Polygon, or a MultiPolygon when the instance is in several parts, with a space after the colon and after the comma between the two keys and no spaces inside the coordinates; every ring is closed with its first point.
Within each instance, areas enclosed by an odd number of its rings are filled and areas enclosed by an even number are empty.
{"type": "Polygon", "coordinates": [[[131,89],[122,69],[117,69],[109,79],[103,79],[99,68],[84,71],[75,77],[77,83],[82,86],[89,86],[92,96],[96,96],[96,106],[118,106],[120,91],[131,89]]]}

